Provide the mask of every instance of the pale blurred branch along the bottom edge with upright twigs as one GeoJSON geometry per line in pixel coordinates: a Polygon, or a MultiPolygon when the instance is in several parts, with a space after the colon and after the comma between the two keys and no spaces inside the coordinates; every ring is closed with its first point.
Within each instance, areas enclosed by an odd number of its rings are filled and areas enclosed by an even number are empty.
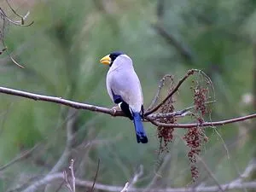
{"type": "MultiPolygon", "coordinates": [[[[204,163],[203,160],[201,160],[201,162],[204,164],[203,166],[205,166],[207,168],[207,172],[209,172],[209,174],[211,175],[211,177],[213,177],[213,173],[209,170],[209,168],[207,167],[207,165],[204,163]]],[[[246,178],[249,177],[250,173],[253,172],[253,170],[255,169],[255,160],[251,160],[251,162],[249,163],[249,165],[246,167],[245,171],[243,172],[243,174],[241,175],[242,178],[246,178]]],[[[74,175],[72,173],[72,184],[73,184],[73,189],[70,185],[70,189],[72,189],[71,191],[75,192],[75,185],[79,186],[79,187],[85,187],[85,188],[91,188],[92,185],[94,185],[94,189],[98,189],[98,190],[104,190],[104,191],[129,191],[130,192],[143,192],[145,191],[145,188],[134,188],[132,187],[132,183],[136,183],[137,179],[139,177],[141,177],[143,175],[143,167],[140,167],[139,172],[137,172],[135,174],[135,176],[132,178],[131,181],[131,185],[129,186],[129,183],[125,184],[125,187],[122,186],[113,186],[113,185],[106,185],[106,184],[102,184],[102,183],[95,183],[95,181],[91,182],[91,181],[86,181],[86,180],[81,180],[79,178],[74,178],[74,175]]],[[[71,170],[71,172],[73,171],[73,160],[71,161],[71,166],[69,167],[69,169],[71,170]]],[[[256,189],[256,182],[242,182],[241,177],[239,177],[238,179],[235,179],[229,183],[224,183],[224,184],[220,184],[216,181],[217,185],[212,185],[212,186],[197,186],[197,187],[187,187],[187,188],[166,188],[166,189],[159,189],[159,188],[147,188],[147,191],[154,191],[154,192],[217,192],[219,191],[219,189],[221,189],[222,191],[228,191],[228,190],[233,190],[233,189],[256,189]]],[[[32,183],[29,187],[27,187],[25,190],[23,190],[23,192],[33,192],[36,191],[39,187],[42,187],[46,184],[49,183],[54,183],[57,181],[61,181],[61,180],[65,180],[67,181],[67,174],[63,174],[63,173],[53,173],[53,174],[49,174],[46,175],[45,177],[39,179],[38,181],[32,183]]],[[[215,178],[214,178],[215,179],[215,178]]],[[[68,181],[67,181],[68,182],[68,181]]]]}

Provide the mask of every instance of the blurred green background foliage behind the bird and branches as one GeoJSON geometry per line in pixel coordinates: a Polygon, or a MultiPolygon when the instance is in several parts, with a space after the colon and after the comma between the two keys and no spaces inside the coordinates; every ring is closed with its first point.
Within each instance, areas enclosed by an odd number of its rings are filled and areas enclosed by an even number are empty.
{"type": "MultiPolygon", "coordinates": [[[[0,55],[1,86],[112,108],[105,87],[108,67],[99,60],[113,50],[122,50],[134,61],[145,108],[165,74],[172,74],[177,82],[190,68],[197,68],[207,73],[215,88],[212,120],[255,111],[253,0],[9,3],[20,15],[30,11],[26,22],[34,20],[34,24],[26,27],[6,23],[3,29],[2,21],[1,38],[25,68],[17,67],[7,53],[0,55]]],[[[0,0],[0,7],[9,18],[19,20],[5,0],[0,0]]],[[[189,82],[174,98],[175,110],[193,106],[189,82]]],[[[189,148],[181,139],[185,130],[176,130],[169,152],[158,154],[156,127],[149,123],[144,123],[149,143],[137,144],[132,122],[126,118],[3,94],[0,106],[0,167],[33,149],[12,166],[0,169],[0,191],[26,189],[49,172],[65,170],[71,158],[75,160],[76,177],[88,181],[94,180],[100,160],[96,182],[113,186],[124,186],[141,166],[143,175],[136,187],[216,184],[201,163],[200,177],[191,183],[189,148]],[[68,131],[73,133],[70,145],[66,144],[68,131]]],[[[239,177],[253,160],[254,124],[248,120],[218,127],[218,132],[207,129],[209,141],[202,146],[201,158],[218,183],[239,177]]],[[[44,185],[37,191],[56,191],[59,186],[60,183],[46,188],[44,185]]]]}

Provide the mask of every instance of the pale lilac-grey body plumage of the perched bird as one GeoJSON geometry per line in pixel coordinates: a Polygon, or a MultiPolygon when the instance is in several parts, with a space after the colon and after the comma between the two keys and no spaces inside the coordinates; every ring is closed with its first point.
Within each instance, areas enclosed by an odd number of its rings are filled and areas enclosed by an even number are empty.
{"type": "MultiPolygon", "coordinates": [[[[119,55],[108,70],[108,95],[112,100],[113,94],[121,96],[129,104],[133,112],[140,112],[143,105],[143,91],[137,74],[134,71],[131,58],[119,55]]],[[[113,101],[114,102],[114,101],[113,101]]]]}

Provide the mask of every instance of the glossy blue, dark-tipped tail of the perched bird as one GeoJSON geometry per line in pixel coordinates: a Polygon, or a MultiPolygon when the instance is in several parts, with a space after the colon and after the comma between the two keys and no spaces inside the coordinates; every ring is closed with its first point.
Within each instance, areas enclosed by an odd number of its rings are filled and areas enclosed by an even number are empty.
{"type": "Polygon", "coordinates": [[[142,116],[140,113],[133,113],[133,124],[135,127],[137,143],[148,143],[148,137],[144,131],[142,116]]]}

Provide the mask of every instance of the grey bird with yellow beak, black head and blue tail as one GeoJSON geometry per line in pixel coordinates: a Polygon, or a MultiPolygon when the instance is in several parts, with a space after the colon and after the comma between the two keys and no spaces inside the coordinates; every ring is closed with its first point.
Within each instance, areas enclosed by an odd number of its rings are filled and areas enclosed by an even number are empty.
{"type": "Polygon", "coordinates": [[[137,143],[148,143],[143,128],[143,90],[131,57],[114,51],[102,57],[100,62],[109,67],[106,77],[108,95],[133,120],[137,143]]]}

